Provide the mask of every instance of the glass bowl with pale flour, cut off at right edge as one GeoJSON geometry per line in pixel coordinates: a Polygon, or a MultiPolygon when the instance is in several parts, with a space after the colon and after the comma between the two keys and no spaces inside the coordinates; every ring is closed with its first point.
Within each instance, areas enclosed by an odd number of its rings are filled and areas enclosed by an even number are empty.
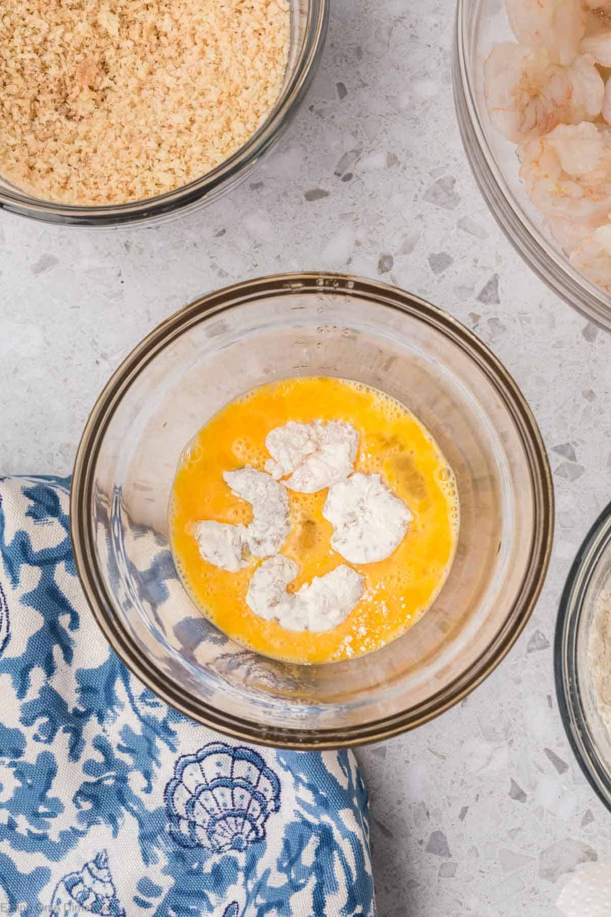
{"type": "Polygon", "coordinates": [[[611,810],[611,503],[586,536],[564,587],[554,668],[575,757],[611,810]]]}

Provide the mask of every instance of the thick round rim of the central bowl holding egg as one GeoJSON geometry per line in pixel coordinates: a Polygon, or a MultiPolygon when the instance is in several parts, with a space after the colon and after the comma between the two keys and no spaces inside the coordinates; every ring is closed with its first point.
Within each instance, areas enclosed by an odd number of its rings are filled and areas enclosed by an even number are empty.
{"type": "Polygon", "coordinates": [[[94,403],[83,429],[71,483],[71,540],[77,573],[93,617],[127,668],[158,697],[191,719],[235,738],[260,745],[301,750],[337,748],[377,742],[428,722],[461,701],[496,668],[527,624],[545,580],[551,556],[553,504],[550,465],[539,427],[529,405],[505,367],[468,328],[437,306],[387,283],[345,274],[298,272],[270,275],[208,293],[170,315],[124,359],[94,403]],[[93,469],[105,429],[123,392],[135,376],[146,368],[147,363],[191,325],[198,324],[210,315],[219,315],[239,308],[240,305],[262,296],[311,292],[347,294],[355,296],[357,301],[360,298],[382,304],[399,313],[417,318],[437,333],[442,333],[455,346],[462,348],[479,369],[484,371],[495,389],[496,396],[504,403],[516,426],[517,435],[526,453],[533,492],[534,524],[530,561],[511,610],[504,624],[486,646],[486,650],[467,671],[453,679],[444,689],[431,695],[426,702],[421,702],[418,707],[344,729],[325,727],[308,730],[257,724],[255,721],[246,721],[228,713],[219,713],[201,700],[195,709],[195,704],[190,702],[190,698],[186,698],[180,689],[159,677],[155,667],[138,652],[123,628],[117,626],[115,614],[109,613],[108,609],[113,608],[114,602],[105,590],[104,578],[97,569],[92,548],[93,535],[89,526],[93,469]]]}

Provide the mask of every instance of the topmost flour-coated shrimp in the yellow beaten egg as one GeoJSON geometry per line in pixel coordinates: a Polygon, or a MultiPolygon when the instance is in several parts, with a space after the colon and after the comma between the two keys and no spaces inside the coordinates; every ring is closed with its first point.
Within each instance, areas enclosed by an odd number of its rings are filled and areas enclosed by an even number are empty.
{"type": "Polygon", "coordinates": [[[358,433],[343,420],[323,424],[296,424],[292,420],[270,430],[266,447],[272,458],[266,470],[276,478],[290,475],[284,484],[291,491],[315,493],[344,481],[355,467],[358,433]]]}

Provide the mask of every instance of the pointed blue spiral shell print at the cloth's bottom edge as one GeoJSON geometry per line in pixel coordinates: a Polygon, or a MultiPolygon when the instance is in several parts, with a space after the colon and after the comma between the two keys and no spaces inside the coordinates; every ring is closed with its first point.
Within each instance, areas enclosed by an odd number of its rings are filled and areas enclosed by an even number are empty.
{"type": "Polygon", "coordinates": [[[105,850],[85,863],[80,872],[69,872],[60,879],[53,892],[50,917],[77,913],[125,917],[121,902],[116,897],[105,850]]]}

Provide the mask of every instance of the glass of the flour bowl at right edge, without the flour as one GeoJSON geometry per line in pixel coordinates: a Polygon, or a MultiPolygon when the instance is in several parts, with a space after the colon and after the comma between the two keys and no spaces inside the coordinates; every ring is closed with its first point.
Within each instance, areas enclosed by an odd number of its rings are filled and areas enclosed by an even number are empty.
{"type": "Polygon", "coordinates": [[[554,671],[562,723],[586,778],[611,811],[611,735],[598,713],[587,650],[595,604],[611,586],[611,503],[573,561],[562,592],[554,671]]]}

